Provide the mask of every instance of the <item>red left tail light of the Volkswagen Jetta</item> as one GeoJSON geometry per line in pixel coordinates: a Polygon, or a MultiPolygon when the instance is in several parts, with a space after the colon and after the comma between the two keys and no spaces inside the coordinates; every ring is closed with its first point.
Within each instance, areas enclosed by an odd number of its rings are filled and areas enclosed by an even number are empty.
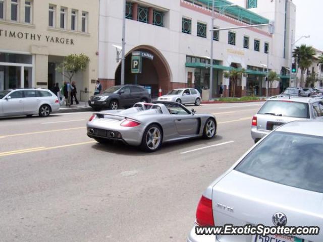
{"type": "Polygon", "coordinates": [[[196,210],[196,223],[199,226],[214,226],[212,200],[201,197],[196,210]]]}

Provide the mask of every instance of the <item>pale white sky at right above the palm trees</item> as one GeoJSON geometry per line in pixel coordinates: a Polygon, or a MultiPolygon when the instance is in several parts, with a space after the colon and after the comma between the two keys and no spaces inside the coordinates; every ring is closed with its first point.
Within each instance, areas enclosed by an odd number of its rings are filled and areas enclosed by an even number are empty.
{"type": "Polygon", "coordinates": [[[296,5],[295,40],[303,35],[310,35],[310,38],[302,38],[295,45],[312,45],[323,50],[323,27],[320,21],[323,0],[293,0],[293,3],[296,5]]]}

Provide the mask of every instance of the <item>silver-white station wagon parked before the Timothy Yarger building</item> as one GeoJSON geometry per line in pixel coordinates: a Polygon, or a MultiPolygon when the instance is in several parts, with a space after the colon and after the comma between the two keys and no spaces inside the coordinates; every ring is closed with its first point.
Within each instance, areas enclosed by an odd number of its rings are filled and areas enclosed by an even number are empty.
{"type": "Polygon", "coordinates": [[[58,97],[47,89],[28,88],[0,91],[0,117],[39,114],[48,116],[60,109],[58,97]]]}

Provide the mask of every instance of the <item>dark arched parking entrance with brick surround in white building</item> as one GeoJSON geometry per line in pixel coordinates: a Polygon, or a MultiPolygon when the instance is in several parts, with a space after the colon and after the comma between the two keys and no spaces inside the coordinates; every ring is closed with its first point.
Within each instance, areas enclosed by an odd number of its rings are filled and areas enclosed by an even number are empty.
{"type": "MultiPolygon", "coordinates": [[[[125,84],[135,84],[136,74],[131,73],[131,54],[133,51],[145,51],[154,55],[153,59],[142,58],[142,73],[137,74],[137,84],[151,87],[151,97],[158,96],[159,86],[166,94],[171,88],[171,72],[165,57],[154,47],[140,45],[126,54],[125,84]]],[[[120,85],[121,64],[115,73],[115,83],[120,85]]]]}

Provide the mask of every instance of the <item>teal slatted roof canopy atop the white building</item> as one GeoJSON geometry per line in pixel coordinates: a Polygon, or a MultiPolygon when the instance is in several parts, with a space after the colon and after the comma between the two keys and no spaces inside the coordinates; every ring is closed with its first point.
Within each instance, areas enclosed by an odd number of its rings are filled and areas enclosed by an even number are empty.
{"type": "MultiPolygon", "coordinates": [[[[196,0],[193,0],[193,2],[196,0]]],[[[248,23],[250,25],[254,24],[268,24],[269,20],[253,13],[252,11],[245,9],[240,6],[229,6],[233,5],[233,3],[227,1],[227,0],[197,0],[197,2],[200,2],[202,4],[207,5],[209,9],[212,8],[212,2],[214,2],[214,9],[218,11],[223,11],[225,8],[224,13],[228,16],[234,17],[238,19],[239,21],[248,23]]]]}

